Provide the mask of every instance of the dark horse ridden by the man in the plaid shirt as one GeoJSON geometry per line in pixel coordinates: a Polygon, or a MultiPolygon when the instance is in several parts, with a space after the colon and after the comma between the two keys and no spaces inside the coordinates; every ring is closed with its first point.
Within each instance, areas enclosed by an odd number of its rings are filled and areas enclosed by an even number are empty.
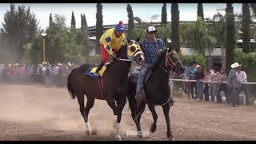
{"type": "Polygon", "coordinates": [[[135,99],[136,94],[136,81],[131,81],[132,76],[128,81],[128,101],[130,110],[132,113],[132,118],[137,126],[138,136],[142,138],[142,128],[140,125],[141,115],[145,110],[146,103],[149,106],[151,114],[154,118],[154,123],[150,128],[150,132],[154,133],[157,129],[157,119],[158,114],[156,113],[154,106],[162,106],[163,113],[166,118],[167,125],[167,138],[169,140],[174,140],[173,134],[171,134],[170,130],[170,71],[177,72],[178,74],[183,74],[184,68],[182,62],[178,58],[178,54],[171,48],[167,50],[163,50],[158,54],[158,65],[154,67],[150,78],[143,84],[146,98],[140,102],[139,106],[137,106],[137,102],[135,99]]]}

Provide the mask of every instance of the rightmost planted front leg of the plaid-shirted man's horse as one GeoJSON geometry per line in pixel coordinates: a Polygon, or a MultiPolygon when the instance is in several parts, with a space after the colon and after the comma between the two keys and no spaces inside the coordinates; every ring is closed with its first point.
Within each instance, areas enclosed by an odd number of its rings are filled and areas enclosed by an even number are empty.
{"type": "Polygon", "coordinates": [[[166,126],[167,126],[167,138],[170,141],[174,141],[174,136],[173,134],[171,134],[170,131],[170,103],[166,103],[164,106],[162,106],[162,110],[163,110],[163,114],[165,115],[166,118],[166,126]]]}

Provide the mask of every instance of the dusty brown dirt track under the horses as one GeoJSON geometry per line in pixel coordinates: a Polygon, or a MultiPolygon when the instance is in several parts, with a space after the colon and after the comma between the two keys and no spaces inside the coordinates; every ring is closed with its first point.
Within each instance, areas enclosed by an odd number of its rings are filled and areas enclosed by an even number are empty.
{"type": "MultiPolygon", "coordinates": [[[[0,140],[112,140],[113,114],[105,101],[96,101],[90,111],[90,127],[97,134],[85,136],[77,99],[66,89],[43,86],[0,85],[0,140]]],[[[256,140],[256,107],[230,107],[213,102],[175,98],[171,127],[175,140],[256,140]]],[[[146,111],[148,109],[146,108],[146,111]]],[[[167,140],[162,108],[157,107],[158,129],[142,140],[167,140]]],[[[153,118],[142,115],[142,129],[149,130],[153,118]]],[[[125,107],[122,132],[136,130],[125,107]]],[[[124,133],[123,133],[124,134],[124,133]]],[[[141,140],[125,137],[122,140],[141,140]]]]}

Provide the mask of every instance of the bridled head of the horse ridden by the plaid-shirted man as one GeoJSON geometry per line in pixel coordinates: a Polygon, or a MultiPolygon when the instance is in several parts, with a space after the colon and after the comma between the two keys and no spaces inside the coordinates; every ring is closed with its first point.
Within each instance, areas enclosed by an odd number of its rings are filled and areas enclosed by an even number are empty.
{"type": "Polygon", "coordinates": [[[185,68],[180,59],[178,58],[178,54],[176,53],[176,51],[171,50],[171,46],[169,50],[166,51],[165,65],[168,71],[172,70],[179,75],[184,73],[185,68]]]}

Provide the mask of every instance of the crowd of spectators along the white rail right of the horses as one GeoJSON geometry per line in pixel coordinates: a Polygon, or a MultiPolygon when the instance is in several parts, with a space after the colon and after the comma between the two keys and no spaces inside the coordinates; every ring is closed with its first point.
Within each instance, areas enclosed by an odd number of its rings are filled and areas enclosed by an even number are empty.
{"type": "Polygon", "coordinates": [[[184,94],[188,94],[189,98],[197,101],[219,102],[222,103],[221,91],[225,94],[225,101],[231,103],[232,106],[240,105],[239,94],[244,92],[246,96],[246,106],[250,105],[249,88],[246,72],[242,70],[242,66],[235,62],[231,65],[228,76],[223,68],[214,66],[212,70],[198,65],[197,62],[190,62],[190,67],[186,67],[184,79],[195,80],[196,82],[184,82],[184,94]]]}

